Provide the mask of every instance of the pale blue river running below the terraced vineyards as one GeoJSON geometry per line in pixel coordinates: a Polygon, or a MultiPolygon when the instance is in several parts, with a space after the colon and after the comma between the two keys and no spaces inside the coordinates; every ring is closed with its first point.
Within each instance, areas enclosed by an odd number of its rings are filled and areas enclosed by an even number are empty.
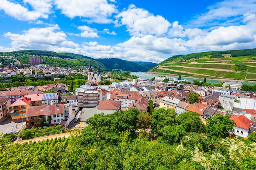
{"type": "MultiPolygon", "coordinates": [[[[178,79],[178,76],[173,76],[173,75],[156,75],[156,74],[145,74],[145,73],[146,72],[131,72],[131,75],[137,75],[141,79],[152,79],[153,77],[156,77],[156,76],[169,76],[169,77],[175,77],[178,79]]],[[[187,79],[188,81],[193,81],[193,80],[204,81],[204,78],[193,78],[193,77],[181,77],[181,78],[187,79]]],[[[231,82],[231,81],[232,80],[227,80],[226,82],[231,82]]],[[[222,80],[206,79],[206,82],[209,82],[211,84],[220,84],[222,82],[222,80]]],[[[253,86],[255,83],[243,82],[243,84],[249,84],[251,86],[253,86]]]]}

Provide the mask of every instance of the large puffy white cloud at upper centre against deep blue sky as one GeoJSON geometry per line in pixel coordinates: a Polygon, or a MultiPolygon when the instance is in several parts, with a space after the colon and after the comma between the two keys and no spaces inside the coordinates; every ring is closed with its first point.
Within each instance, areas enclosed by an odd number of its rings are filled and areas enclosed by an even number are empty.
{"type": "Polygon", "coordinates": [[[162,16],[149,13],[144,9],[130,5],[128,9],[115,16],[116,26],[126,25],[127,31],[133,36],[156,35],[167,33],[171,24],[162,16]]]}

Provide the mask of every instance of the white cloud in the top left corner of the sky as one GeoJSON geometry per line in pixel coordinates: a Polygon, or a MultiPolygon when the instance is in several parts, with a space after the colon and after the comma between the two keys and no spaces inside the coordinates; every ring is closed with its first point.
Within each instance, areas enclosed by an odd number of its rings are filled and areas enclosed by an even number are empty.
{"type": "Polygon", "coordinates": [[[31,3],[35,9],[29,11],[18,3],[0,0],[0,10],[4,10],[7,15],[10,15],[18,20],[36,20],[38,18],[48,18],[51,13],[51,0],[25,0],[24,2],[31,3]],[[37,4],[36,4],[37,3],[37,4]]]}

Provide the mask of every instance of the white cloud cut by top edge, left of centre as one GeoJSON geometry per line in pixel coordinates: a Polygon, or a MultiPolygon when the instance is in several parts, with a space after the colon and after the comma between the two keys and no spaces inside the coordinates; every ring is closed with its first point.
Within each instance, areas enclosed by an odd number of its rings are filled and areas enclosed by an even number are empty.
{"type": "Polygon", "coordinates": [[[111,23],[109,17],[116,12],[115,5],[107,0],[55,0],[55,4],[69,18],[79,16],[96,23],[111,23]]]}

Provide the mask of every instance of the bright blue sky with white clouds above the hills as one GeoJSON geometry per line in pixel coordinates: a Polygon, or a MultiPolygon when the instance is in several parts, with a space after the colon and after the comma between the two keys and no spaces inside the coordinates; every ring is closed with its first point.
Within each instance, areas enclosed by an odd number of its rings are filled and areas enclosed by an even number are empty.
{"type": "Polygon", "coordinates": [[[159,63],[256,48],[256,0],[0,0],[0,51],[159,63]]]}

